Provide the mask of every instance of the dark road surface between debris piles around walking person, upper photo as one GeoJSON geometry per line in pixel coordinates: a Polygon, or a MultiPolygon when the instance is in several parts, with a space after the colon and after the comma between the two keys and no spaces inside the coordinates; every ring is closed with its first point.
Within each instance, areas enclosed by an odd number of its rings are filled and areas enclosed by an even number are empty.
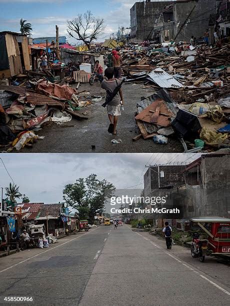
{"type": "MultiPolygon", "coordinates": [[[[50,123],[38,131],[43,140],[37,140],[32,148],[23,148],[20,152],[183,152],[181,143],[176,138],[168,138],[167,144],[156,144],[152,139],[143,138],[132,141],[132,137],[139,134],[135,123],[136,102],[141,96],[153,93],[149,88],[143,89],[143,83],[125,83],[122,86],[124,110],[118,118],[117,135],[107,132],[109,120],[106,108],[99,102],[82,107],[81,111],[88,115],[87,120],[72,118],[62,125],[50,123]],[[121,139],[120,143],[111,143],[112,139],[121,139]],[[92,145],[95,149],[92,150],[92,145]]],[[[105,91],[98,82],[93,86],[80,84],[79,91],[86,90],[90,95],[105,96],[105,91]]]]}

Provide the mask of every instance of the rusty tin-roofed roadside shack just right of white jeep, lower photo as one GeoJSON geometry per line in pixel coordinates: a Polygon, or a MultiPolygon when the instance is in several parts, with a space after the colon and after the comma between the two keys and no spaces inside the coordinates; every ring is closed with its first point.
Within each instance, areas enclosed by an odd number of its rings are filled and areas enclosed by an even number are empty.
{"type": "Polygon", "coordinates": [[[62,203],[42,204],[39,216],[36,217],[36,223],[44,223],[46,234],[51,233],[53,236],[64,234],[69,220],[68,209],[62,203]]]}

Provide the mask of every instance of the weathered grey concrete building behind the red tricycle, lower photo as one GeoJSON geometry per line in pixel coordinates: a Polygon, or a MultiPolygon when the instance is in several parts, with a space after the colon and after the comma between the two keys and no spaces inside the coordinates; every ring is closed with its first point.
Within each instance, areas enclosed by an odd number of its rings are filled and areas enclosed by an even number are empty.
{"type": "Polygon", "coordinates": [[[186,217],[230,216],[229,153],[203,154],[186,167],[184,174],[186,217]]]}

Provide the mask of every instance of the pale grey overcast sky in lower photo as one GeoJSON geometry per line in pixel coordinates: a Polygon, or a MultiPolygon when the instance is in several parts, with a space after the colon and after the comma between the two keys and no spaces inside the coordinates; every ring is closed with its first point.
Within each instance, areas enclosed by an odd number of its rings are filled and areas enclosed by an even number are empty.
{"type": "MultiPolygon", "coordinates": [[[[95,173],[118,189],[142,188],[145,164],[188,164],[194,153],[1,153],[9,174],[30,202],[58,203],[67,183],[95,173]],[[191,157],[191,158],[189,158],[191,157]]],[[[0,187],[11,181],[0,160],[0,187]]]]}

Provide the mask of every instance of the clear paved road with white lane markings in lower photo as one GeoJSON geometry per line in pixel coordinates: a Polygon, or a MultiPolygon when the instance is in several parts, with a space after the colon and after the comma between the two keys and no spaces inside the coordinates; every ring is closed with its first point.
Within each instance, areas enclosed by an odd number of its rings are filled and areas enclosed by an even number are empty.
{"type": "Polygon", "coordinates": [[[163,240],[126,225],[28,254],[0,259],[0,295],[33,295],[36,305],[229,304],[229,266],[200,263],[180,246],[165,250],[163,240]]]}

